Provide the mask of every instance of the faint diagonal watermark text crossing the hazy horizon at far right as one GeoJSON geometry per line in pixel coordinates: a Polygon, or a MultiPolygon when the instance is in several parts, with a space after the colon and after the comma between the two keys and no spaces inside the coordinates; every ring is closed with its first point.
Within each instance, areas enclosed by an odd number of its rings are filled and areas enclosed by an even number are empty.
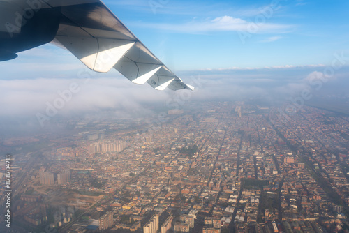
{"type": "Polygon", "coordinates": [[[335,53],[331,66],[325,67],[324,70],[322,70],[322,73],[319,72],[312,75],[309,80],[307,80],[309,82],[309,87],[303,89],[298,97],[290,98],[290,104],[281,106],[279,108],[279,121],[283,123],[285,123],[285,121],[289,121],[290,114],[292,114],[292,112],[301,110],[306,104],[306,101],[313,98],[313,92],[320,91],[324,84],[334,78],[336,71],[348,65],[348,62],[349,57],[346,57],[344,52],[341,52],[340,54],[335,53]]]}

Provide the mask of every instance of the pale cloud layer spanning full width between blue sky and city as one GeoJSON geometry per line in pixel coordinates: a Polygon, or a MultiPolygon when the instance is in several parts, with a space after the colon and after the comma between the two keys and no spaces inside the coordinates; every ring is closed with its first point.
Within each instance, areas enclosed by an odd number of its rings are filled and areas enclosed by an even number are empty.
{"type": "MultiPolygon", "coordinates": [[[[90,112],[114,112],[119,117],[149,114],[144,105],[163,105],[170,100],[188,96],[196,100],[237,100],[240,98],[287,99],[302,89],[318,91],[316,81],[323,80],[323,68],[261,68],[193,70],[179,75],[195,91],[156,91],[149,85],[136,85],[124,77],[91,79],[38,78],[31,80],[0,80],[0,117],[47,115],[47,107],[58,106],[57,116],[90,112]],[[313,82],[313,84],[312,84],[313,82]],[[315,83],[315,84],[314,84],[315,83]],[[72,86],[73,85],[73,86],[72,86]],[[72,92],[72,87],[73,92],[72,92]],[[63,100],[63,101],[62,101],[63,100]]],[[[323,89],[337,84],[344,87],[349,68],[340,70],[323,89]],[[336,77],[339,77],[336,79],[336,77]]]]}

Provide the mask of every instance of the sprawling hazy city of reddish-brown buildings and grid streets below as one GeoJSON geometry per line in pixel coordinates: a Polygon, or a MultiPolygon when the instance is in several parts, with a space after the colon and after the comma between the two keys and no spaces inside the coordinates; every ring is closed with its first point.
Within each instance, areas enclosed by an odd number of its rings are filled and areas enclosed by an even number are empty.
{"type": "Polygon", "coordinates": [[[348,115],[283,111],[190,102],[161,121],[68,119],[51,133],[3,137],[1,171],[15,151],[11,229],[348,231],[348,115]]]}

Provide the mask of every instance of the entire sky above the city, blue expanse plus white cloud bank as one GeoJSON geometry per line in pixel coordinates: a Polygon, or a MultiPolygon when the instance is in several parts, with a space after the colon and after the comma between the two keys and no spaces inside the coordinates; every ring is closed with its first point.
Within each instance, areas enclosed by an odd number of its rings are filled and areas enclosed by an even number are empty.
{"type": "MultiPolygon", "coordinates": [[[[320,86],[314,80],[323,84],[321,91],[348,92],[349,1],[104,2],[168,68],[196,87],[191,100],[290,100],[304,90],[315,96],[320,86]],[[324,81],[333,63],[341,67],[324,81]]],[[[0,69],[0,117],[35,118],[73,82],[81,90],[57,114],[128,116],[147,112],[144,103],[165,105],[181,96],[132,84],[116,70],[89,72],[91,81],[82,82],[77,74],[87,68],[54,45],[21,52],[0,69]]]]}

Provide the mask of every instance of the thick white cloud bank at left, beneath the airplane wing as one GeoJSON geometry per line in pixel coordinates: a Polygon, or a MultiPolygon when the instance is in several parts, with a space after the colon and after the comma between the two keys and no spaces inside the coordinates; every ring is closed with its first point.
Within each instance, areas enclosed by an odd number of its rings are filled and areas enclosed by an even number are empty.
{"type": "MultiPolygon", "coordinates": [[[[45,114],[47,103],[61,101],[60,93],[78,84],[77,93],[67,94],[64,107],[57,115],[83,114],[85,112],[138,112],[146,110],[142,103],[156,102],[168,98],[168,91],[156,91],[148,85],[138,86],[127,79],[114,77],[91,79],[0,80],[0,117],[26,115],[35,117],[45,114]],[[69,98],[68,98],[69,97],[69,98]]],[[[62,102],[62,101],[61,101],[62,102]]],[[[61,104],[61,103],[60,103],[61,104]]]]}

